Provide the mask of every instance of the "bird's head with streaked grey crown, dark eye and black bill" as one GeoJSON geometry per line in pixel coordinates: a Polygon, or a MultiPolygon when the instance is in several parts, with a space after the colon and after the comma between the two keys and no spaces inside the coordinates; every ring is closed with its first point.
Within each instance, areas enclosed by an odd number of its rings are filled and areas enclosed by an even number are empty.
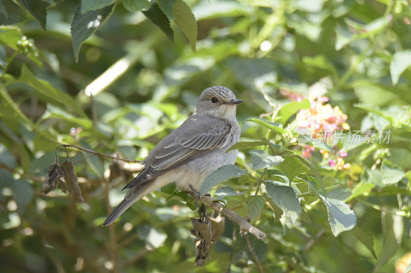
{"type": "Polygon", "coordinates": [[[201,93],[194,113],[225,119],[235,118],[235,107],[241,102],[227,87],[213,86],[201,93]]]}

